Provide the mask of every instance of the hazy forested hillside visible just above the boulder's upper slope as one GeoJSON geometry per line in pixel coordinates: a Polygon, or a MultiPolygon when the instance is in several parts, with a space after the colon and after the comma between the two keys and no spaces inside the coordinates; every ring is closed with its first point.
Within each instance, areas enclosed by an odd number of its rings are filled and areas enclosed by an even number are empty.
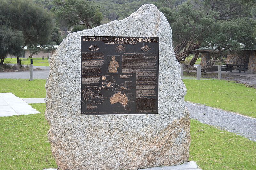
{"type": "Polygon", "coordinates": [[[120,20],[128,17],[144,4],[156,4],[157,0],[89,0],[100,7],[104,17],[120,20]]]}

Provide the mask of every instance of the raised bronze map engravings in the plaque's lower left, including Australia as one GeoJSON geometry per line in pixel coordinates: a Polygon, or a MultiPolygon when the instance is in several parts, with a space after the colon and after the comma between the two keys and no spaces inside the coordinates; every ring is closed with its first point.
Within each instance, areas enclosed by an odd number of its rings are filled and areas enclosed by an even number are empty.
{"type": "Polygon", "coordinates": [[[101,87],[88,88],[82,91],[82,102],[84,104],[96,104],[98,107],[105,107],[104,102],[105,104],[107,102],[113,106],[123,107],[127,111],[135,100],[133,78],[134,75],[102,75],[101,87]]]}

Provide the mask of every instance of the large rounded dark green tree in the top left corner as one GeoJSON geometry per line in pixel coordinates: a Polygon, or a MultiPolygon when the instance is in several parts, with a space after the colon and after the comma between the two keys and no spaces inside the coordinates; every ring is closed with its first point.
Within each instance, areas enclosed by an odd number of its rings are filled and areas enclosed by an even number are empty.
{"type": "Polygon", "coordinates": [[[20,48],[23,50],[27,46],[31,49],[29,57],[48,45],[54,26],[51,13],[30,0],[3,0],[0,20],[0,25],[22,32],[24,43],[20,48]]]}

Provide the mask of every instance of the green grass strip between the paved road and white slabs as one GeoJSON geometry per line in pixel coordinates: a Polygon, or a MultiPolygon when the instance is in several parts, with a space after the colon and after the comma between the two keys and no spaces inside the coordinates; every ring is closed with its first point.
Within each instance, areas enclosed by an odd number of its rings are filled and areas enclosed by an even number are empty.
{"type": "Polygon", "coordinates": [[[20,98],[45,98],[45,82],[42,79],[0,79],[0,93],[12,92],[20,98]]]}

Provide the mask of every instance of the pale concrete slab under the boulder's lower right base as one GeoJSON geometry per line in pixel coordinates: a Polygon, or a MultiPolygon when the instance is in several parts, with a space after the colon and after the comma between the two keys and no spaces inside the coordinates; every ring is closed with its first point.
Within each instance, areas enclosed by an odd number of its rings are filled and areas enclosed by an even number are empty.
{"type": "Polygon", "coordinates": [[[185,162],[183,164],[175,165],[175,166],[160,166],[160,167],[146,168],[146,169],[140,169],[140,170],[171,170],[171,169],[201,170],[200,168],[198,168],[198,166],[196,165],[196,162],[194,161],[185,162]]]}

